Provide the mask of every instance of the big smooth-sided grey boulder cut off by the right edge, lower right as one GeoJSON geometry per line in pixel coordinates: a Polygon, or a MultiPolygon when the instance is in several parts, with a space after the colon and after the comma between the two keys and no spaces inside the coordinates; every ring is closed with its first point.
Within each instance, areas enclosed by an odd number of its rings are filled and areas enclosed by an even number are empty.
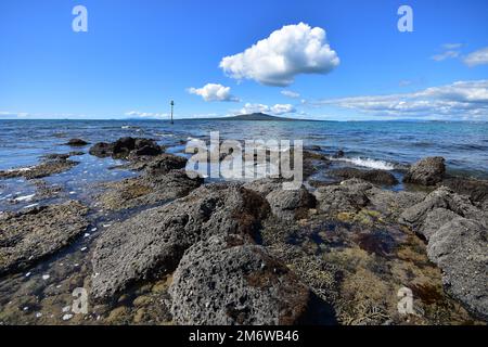
{"type": "Polygon", "coordinates": [[[440,227],[427,245],[442,282],[472,312],[488,318],[488,231],[475,220],[457,217],[440,227]]]}

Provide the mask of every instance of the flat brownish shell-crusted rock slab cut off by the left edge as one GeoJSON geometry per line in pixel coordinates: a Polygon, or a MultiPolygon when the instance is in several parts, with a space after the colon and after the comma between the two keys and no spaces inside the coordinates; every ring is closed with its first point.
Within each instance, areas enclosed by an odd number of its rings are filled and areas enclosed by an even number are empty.
{"type": "Polygon", "coordinates": [[[78,202],[0,215],[0,273],[18,271],[51,255],[88,227],[78,202]]]}

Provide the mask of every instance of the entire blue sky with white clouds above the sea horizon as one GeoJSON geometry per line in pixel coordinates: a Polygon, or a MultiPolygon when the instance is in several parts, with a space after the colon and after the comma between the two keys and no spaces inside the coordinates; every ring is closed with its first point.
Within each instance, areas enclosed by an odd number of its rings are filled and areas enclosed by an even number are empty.
{"type": "Polygon", "coordinates": [[[0,2],[0,119],[160,119],[170,100],[177,118],[488,120],[488,1],[0,2]]]}

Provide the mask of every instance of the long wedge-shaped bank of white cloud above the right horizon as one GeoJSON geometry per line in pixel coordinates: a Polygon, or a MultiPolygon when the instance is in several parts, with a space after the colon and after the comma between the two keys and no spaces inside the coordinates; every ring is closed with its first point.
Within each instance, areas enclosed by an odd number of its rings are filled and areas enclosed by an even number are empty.
{"type": "Polygon", "coordinates": [[[309,104],[351,108],[374,116],[488,119],[488,80],[457,81],[412,93],[330,99],[309,104]]]}

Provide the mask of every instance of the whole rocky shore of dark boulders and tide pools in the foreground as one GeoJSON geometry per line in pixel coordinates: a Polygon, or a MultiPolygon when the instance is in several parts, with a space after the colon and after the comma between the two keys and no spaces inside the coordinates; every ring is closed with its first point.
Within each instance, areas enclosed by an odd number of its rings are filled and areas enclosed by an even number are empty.
{"type": "MultiPolygon", "coordinates": [[[[488,320],[488,183],[449,177],[441,157],[412,164],[402,191],[387,189],[399,181],[389,171],[358,168],[285,191],[278,179],[191,179],[187,159],[151,139],[95,143],[89,153],[121,158],[120,168],[138,175],[100,184],[89,202],[0,214],[0,290],[12,281],[25,291],[0,298],[1,323],[488,320]],[[55,256],[74,244],[87,249],[66,256],[78,257],[78,267],[65,272],[67,261],[55,256]],[[47,259],[63,264],[49,279],[57,282],[26,290],[26,271],[44,269],[47,259]],[[89,293],[89,312],[68,314],[78,286],[89,293]],[[402,287],[413,294],[408,314],[398,310],[402,287]]],[[[68,157],[52,155],[0,178],[49,177],[74,167],[68,157]]],[[[329,165],[320,149],[304,155],[307,178],[329,165]]]]}

